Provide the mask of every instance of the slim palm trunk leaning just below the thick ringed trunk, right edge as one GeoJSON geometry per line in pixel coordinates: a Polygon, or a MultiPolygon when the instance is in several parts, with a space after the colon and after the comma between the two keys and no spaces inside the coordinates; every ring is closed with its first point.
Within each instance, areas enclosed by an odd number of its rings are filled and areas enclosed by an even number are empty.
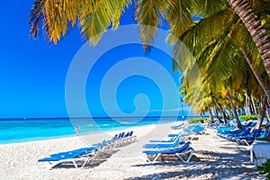
{"type": "Polygon", "coordinates": [[[257,82],[261,85],[262,89],[264,90],[266,96],[268,99],[270,99],[270,87],[269,85],[267,85],[266,81],[263,79],[263,77],[257,72],[257,70],[254,69],[254,67],[252,66],[252,59],[248,56],[247,52],[244,49],[241,49],[242,53],[244,54],[247,63],[249,65],[249,67],[251,68],[253,74],[256,76],[257,78],[257,82]]]}

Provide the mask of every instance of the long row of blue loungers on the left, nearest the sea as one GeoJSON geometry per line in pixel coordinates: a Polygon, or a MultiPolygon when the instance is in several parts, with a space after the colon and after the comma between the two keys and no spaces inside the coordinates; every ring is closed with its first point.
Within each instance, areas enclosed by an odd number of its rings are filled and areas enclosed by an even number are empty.
{"type": "Polygon", "coordinates": [[[133,131],[127,133],[122,132],[120,134],[115,134],[110,140],[103,140],[103,142],[93,144],[91,147],[59,152],[51,154],[49,157],[40,158],[37,161],[37,165],[40,169],[51,169],[61,165],[83,168],[103,155],[111,155],[114,148],[120,148],[135,140],[136,136],[133,135],[133,131]],[[44,164],[47,166],[44,166],[44,164]]]}

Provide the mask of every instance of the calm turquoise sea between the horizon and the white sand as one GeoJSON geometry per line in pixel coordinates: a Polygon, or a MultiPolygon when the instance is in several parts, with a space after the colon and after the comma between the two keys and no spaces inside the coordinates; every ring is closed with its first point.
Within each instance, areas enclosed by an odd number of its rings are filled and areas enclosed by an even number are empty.
{"type": "Polygon", "coordinates": [[[139,118],[115,118],[113,120],[111,118],[0,120],[0,144],[74,136],[76,125],[80,127],[80,133],[91,133],[172,121],[185,121],[186,119],[186,117],[184,119],[167,117],[160,120],[156,117],[146,117],[141,120],[139,118]]]}

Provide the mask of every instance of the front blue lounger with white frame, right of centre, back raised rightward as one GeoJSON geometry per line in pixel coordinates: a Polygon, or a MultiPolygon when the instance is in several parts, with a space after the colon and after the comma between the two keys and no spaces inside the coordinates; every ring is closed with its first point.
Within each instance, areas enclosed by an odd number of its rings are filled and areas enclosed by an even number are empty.
{"type": "Polygon", "coordinates": [[[179,148],[173,148],[173,149],[154,149],[154,150],[146,150],[143,151],[145,157],[147,158],[148,162],[154,163],[157,161],[157,158],[162,156],[162,155],[170,155],[170,154],[175,154],[176,157],[178,157],[182,162],[188,163],[193,156],[193,148],[191,148],[189,145],[191,142],[186,142],[183,146],[179,148]],[[189,156],[187,157],[186,160],[184,160],[184,157],[186,155],[189,156]]]}

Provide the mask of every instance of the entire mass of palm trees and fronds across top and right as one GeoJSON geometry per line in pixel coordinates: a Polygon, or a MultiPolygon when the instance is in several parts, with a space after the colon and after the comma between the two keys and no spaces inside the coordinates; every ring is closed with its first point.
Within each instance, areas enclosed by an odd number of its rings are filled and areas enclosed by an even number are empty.
{"type": "Polygon", "coordinates": [[[229,115],[238,121],[246,111],[260,113],[261,126],[270,100],[270,0],[35,0],[30,34],[36,38],[42,29],[57,44],[77,24],[95,45],[108,28],[117,29],[130,5],[145,52],[157,28],[169,25],[166,41],[174,47],[174,69],[184,74],[179,89],[186,103],[224,123],[229,115]]]}

